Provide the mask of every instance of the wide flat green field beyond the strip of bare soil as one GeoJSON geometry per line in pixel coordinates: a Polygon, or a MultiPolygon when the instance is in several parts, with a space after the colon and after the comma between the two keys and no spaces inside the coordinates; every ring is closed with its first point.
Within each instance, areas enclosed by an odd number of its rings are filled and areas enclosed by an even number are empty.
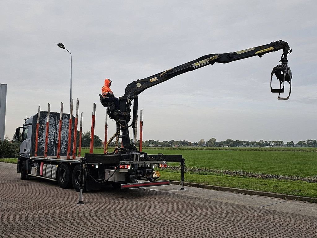
{"type": "MultiPolygon", "coordinates": [[[[146,149],[148,154],[183,155],[186,167],[244,170],[272,175],[317,175],[317,153],[299,151],[244,150],[162,150],[146,149]]],[[[178,165],[178,163],[169,163],[178,165]]]]}

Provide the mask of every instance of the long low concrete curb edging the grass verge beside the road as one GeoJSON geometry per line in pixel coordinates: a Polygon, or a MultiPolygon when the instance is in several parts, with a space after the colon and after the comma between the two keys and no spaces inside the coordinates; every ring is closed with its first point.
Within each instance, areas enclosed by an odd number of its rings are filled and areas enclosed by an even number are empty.
{"type": "MultiPolygon", "coordinates": [[[[170,182],[171,184],[181,185],[181,182],[178,182],[178,181],[170,181],[170,182]]],[[[241,193],[241,194],[247,194],[247,195],[258,195],[258,196],[274,197],[274,198],[281,198],[281,199],[288,199],[288,200],[297,200],[297,201],[304,201],[304,202],[317,202],[317,198],[311,198],[311,197],[301,197],[301,196],[261,192],[261,191],[239,189],[239,188],[227,188],[227,187],[220,187],[220,186],[213,186],[213,185],[206,185],[206,184],[199,184],[199,183],[184,182],[184,186],[212,189],[212,190],[218,190],[218,191],[227,191],[227,192],[241,193]]]]}

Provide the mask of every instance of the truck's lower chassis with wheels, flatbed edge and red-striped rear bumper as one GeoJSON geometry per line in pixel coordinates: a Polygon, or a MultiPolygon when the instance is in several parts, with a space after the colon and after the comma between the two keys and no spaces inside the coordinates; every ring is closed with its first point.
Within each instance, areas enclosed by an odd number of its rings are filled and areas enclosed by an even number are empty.
{"type": "Polygon", "coordinates": [[[67,159],[67,156],[31,156],[24,160],[18,158],[17,172],[21,172],[23,180],[30,176],[40,177],[57,181],[61,188],[73,186],[76,191],[80,190],[81,174],[84,174],[83,190],[90,191],[100,189],[102,184],[120,189],[168,185],[169,181],[156,181],[159,172],[154,168],[166,167],[166,160],[184,164],[182,155],[147,156],[151,160],[139,154],[128,156],[113,153],[85,154],[85,157],[77,156],[75,159],[67,159]],[[81,173],[81,167],[84,173],[81,173]]]}

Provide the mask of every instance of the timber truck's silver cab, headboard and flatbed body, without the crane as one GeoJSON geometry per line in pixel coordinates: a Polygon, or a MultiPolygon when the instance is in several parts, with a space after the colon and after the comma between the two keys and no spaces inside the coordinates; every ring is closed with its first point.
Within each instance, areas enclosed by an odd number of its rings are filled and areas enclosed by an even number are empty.
{"type": "Polygon", "coordinates": [[[17,172],[21,173],[22,180],[40,177],[57,181],[61,188],[73,187],[79,191],[81,163],[84,162],[87,167],[83,189],[86,191],[100,189],[103,184],[120,189],[167,185],[169,181],[155,181],[159,178],[155,166],[166,167],[166,159],[182,160],[181,155],[146,153],[86,153],[83,157],[77,156],[75,121],[76,118],[70,117],[70,114],[41,111],[39,108],[37,114],[25,119],[23,127],[16,129],[16,136],[22,129],[17,163],[17,172]],[[70,155],[74,144],[76,152],[70,155]]]}

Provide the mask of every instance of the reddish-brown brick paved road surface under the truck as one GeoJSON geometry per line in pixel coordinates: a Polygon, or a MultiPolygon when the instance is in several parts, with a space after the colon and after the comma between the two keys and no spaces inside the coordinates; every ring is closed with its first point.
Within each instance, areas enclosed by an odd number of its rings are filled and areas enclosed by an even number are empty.
{"type": "Polygon", "coordinates": [[[84,193],[85,205],[77,205],[73,189],[19,176],[15,168],[0,165],[3,238],[317,237],[317,216],[156,189],[106,188],[84,193]]]}

